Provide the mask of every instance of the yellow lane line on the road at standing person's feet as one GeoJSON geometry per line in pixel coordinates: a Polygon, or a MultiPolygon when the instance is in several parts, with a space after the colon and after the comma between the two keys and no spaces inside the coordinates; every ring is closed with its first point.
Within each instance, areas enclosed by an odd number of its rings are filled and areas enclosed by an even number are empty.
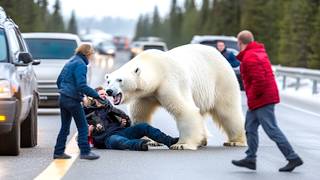
{"type": "Polygon", "coordinates": [[[71,156],[71,159],[55,159],[50,165],[39,174],[35,180],[48,180],[48,179],[62,179],[63,176],[68,172],[71,165],[79,156],[79,148],[76,141],[78,133],[71,138],[70,142],[66,147],[66,154],[71,156]]]}

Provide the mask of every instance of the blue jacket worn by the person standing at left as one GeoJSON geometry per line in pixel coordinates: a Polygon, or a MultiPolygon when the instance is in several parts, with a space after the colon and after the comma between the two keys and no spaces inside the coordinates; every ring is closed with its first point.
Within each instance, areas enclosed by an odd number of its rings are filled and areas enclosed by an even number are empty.
{"type": "Polygon", "coordinates": [[[98,93],[87,85],[88,59],[81,53],[77,53],[63,67],[57,86],[59,93],[82,101],[83,95],[99,98],[98,93]]]}

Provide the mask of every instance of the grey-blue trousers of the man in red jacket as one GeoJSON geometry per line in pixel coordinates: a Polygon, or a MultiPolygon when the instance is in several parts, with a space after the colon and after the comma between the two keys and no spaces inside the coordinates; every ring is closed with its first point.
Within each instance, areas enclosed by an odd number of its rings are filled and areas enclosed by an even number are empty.
{"type": "Polygon", "coordinates": [[[293,151],[293,148],[288,142],[287,138],[277,125],[274,115],[274,106],[274,104],[269,104],[252,111],[247,111],[245,129],[248,150],[246,151],[246,159],[255,160],[257,157],[256,152],[259,143],[259,125],[262,126],[269,138],[277,144],[281,153],[286,157],[287,160],[298,157],[298,155],[293,151]]]}

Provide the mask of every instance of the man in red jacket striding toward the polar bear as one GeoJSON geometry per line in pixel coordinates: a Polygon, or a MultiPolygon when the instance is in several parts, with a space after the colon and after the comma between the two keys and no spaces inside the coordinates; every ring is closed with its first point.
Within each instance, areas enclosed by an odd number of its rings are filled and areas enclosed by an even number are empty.
{"type": "Polygon", "coordinates": [[[237,59],[241,62],[240,74],[249,107],[245,122],[248,150],[244,159],[233,160],[232,163],[239,167],[256,169],[258,127],[261,125],[289,161],[279,171],[291,172],[294,168],[302,165],[303,161],[294,152],[276,122],[274,107],[280,102],[280,98],[267,52],[263,44],[254,41],[250,31],[241,31],[237,38],[240,47],[237,59]]]}

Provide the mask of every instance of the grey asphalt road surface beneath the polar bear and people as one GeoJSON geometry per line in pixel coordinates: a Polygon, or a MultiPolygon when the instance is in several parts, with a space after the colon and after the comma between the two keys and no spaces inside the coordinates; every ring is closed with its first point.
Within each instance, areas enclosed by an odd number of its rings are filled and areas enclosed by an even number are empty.
{"type": "MultiPolygon", "coordinates": [[[[90,84],[103,84],[104,74],[127,62],[128,57],[127,53],[118,53],[114,59],[98,56],[89,70],[90,84]]],[[[232,166],[230,161],[244,157],[246,148],[223,147],[225,135],[208,119],[212,137],[207,147],[197,151],[173,151],[162,146],[152,147],[148,152],[95,149],[101,156],[99,160],[76,159],[63,179],[319,179],[320,106],[304,103],[283,98],[276,106],[279,126],[305,162],[293,173],[278,172],[286,161],[261,128],[257,171],[232,166]]],[[[245,103],[243,107],[245,112],[245,103]]],[[[125,106],[121,108],[125,110],[125,106]]],[[[174,120],[163,109],[156,112],[153,125],[171,136],[178,136],[174,120]]],[[[38,146],[22,149],[18,157],[0,156],[0,179],[33,179],[46,169],[52,162],[59,126],[58,110],[41,109],[38,146]]],[[[71,129],[72,135],[74,123],[71,129]]]]}

